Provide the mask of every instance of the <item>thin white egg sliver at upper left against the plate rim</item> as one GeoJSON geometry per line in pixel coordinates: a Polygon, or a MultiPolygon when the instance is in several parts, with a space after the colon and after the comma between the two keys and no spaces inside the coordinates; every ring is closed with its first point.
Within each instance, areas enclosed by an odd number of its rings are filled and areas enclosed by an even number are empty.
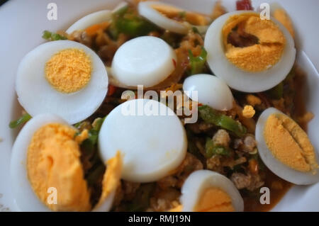
{"type": "Polygon", "coordinates": [[[85,28],[89,28],[89,26],[93,26],[94,24],[103,23],[106,21],[110,21],[112,17],[112,11],[102,10],[95,13],[90,13],[79,19],[79,21],[75,22],[70,26],[66,32],[71,34],[75,30],[84,30],[85,28]]]}

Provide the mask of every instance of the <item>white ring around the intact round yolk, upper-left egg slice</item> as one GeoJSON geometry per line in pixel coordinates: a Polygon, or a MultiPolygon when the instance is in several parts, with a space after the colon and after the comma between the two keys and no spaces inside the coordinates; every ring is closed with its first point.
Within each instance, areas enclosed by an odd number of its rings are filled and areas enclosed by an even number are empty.
{"type": "Polygon", "coordinates": [[[93,114],[103,102],[108,90],[106,68],[89,47],[69,40],[58,40],[35,47],[23,57],[16,77],[16,93],[21,106],[32,116],[55,113],[69,124],[78,123],[93,114]],[[45,63],[52,55],[67,48],[84,50],[91,57],[91,79],[74,93],[54,89],[45,79],[45,63]]]}

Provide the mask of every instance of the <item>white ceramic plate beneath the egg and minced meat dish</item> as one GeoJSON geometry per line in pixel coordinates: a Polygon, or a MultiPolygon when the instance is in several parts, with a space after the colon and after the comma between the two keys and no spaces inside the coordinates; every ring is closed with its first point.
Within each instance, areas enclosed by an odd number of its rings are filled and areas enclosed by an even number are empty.
{"type": "MultiPolygon", "coordinates": [[[[14,89],[16,69],[21,58],[43,43],[43,30],[66,29],[74,21],[94,11],[113,9],[118,0],[10,0],[0,7],[0,211],[16,210],[9,183],[9,159],[18,128],[8,125],[21,114],[14,89]],[[57,4],[57,21],[47,20],[47,4],[57,4]]],[[[214,0],[166,0],[177,6],[211,13],[214,0]]],[[[252,0],[256,9],[262,2],[252,0]]],[[[306,104],[315,118],[308,126],[308,134],[319,149],[319,68],[318,0],[280,0],[289,12],[297,33],[298,63],[308,73],[306,104]],[[310,61],[311,60],[311,61],[310,61]],[[311,63],[313,62],[313,63],[311,63]]],[[[228,11],[235,10],[235,0],[223,1],[228,11]]],[[[294,186],[273,209],[275,211],[319,211],[319,183],[313,186],[294,186]]]]}

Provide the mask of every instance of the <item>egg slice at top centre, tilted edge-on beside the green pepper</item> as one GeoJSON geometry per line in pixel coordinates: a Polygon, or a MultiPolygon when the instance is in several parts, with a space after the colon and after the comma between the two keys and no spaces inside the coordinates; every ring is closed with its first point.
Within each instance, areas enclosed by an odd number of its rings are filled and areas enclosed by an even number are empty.
{"type": "Polygon", "coordinates": [[[160,28],[179,34],[188,33],[192,26],[206,30],[203,27],[206,27],[210,21],[208,16],[192,13],[159,1],[140,2],[138,13],[160,28]]]}

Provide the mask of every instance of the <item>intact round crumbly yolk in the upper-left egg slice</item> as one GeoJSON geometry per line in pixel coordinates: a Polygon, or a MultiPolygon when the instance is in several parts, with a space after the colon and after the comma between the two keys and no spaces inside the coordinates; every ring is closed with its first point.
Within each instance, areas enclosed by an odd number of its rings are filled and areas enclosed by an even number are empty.
{"type": "Polygon", "coordinates": [[[70,48],[53,55],[45,64],[45,78],[57,91],[73,93],[91,79],[91,59],[84,50],[70,48]]]}

